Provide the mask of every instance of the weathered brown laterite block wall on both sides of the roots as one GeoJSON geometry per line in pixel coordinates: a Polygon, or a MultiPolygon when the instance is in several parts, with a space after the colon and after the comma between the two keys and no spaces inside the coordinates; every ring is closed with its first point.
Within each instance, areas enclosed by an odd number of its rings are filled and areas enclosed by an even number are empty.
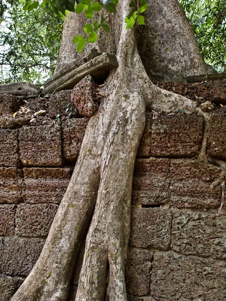
{"type": "MultiPolygon", "coordinates": [[[[78,157],[88,118],[67,118],[62,101],[70,103],[70,94],[0,100],[1,301],[38,259],[78,157]],[[30,112],[13,117],[17,103],[30,112]],[[46,113],[35,116],[40,109],[46,113]]],[[[147,112],[134,170],[129,301],[226,300],[225,123],[218,106],[208,113],[147,112]]],[[[83,252],[84,243],[69,299],[83,252]]]]}

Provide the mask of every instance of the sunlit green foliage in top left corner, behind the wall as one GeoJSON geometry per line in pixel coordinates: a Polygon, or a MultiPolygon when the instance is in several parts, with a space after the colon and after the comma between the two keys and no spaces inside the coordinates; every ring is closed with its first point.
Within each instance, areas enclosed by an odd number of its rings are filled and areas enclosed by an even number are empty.
{"type": "Polygon", "coordinates": [[[23,10],[22,1],[2,3],[0,12],[1,83],[43,83],[54,71],[61,41],[63,20],[48,7],[23,10]],[[2,10],[1,10],[2,9],[2,10]]]}

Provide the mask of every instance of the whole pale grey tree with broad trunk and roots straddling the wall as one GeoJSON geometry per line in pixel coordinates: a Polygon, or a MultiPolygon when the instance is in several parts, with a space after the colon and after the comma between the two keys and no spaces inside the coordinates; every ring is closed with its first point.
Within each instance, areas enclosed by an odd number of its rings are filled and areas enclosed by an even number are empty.
{"type": "MultiPolygon", "coordinates": [[[[132,178],[146,110],[195,109],[192,101],[158,88],[150,77],[206,73],[177,0],[150,0],[146,25],[126,30],[129,4],[121,0],[117,14],[105,14],[111,33],[101,32],[95,47],[116,55],[119,67],[110,72],[104,86],[106,97],[89,121],[40,258],[12,301],[66,301],[77,251],[91,217],[76,301],[102,301],[105,294],[111,301],[127,300],[124,274],[132,178]]],[[[83,15],[68,18],[58,68],[79,55],[71,40],[83,34],[85,21],[83,15]]]]}

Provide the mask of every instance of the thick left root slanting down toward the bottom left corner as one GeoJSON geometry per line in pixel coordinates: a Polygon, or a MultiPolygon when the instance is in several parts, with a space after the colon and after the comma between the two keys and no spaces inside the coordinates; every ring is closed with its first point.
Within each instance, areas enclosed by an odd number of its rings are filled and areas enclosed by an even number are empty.
{"type": "Polygon", "coordinates": [[[77,251],[98,191],[101,150],[96,135],[97,122],[96,114],[88,125],[83,140],[85,150],[80,154],[42,253],[12,301],[67,299],[77,251]]]}

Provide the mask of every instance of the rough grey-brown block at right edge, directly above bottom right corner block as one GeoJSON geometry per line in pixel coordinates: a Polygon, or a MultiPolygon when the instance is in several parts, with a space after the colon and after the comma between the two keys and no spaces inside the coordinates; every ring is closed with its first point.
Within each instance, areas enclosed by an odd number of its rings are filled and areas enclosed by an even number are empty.
{"type": "Polygon", "coordinates": [[[172,222],[172,250],[188,255],[226,259],[226,216],[180,210],[172,222]]]}

